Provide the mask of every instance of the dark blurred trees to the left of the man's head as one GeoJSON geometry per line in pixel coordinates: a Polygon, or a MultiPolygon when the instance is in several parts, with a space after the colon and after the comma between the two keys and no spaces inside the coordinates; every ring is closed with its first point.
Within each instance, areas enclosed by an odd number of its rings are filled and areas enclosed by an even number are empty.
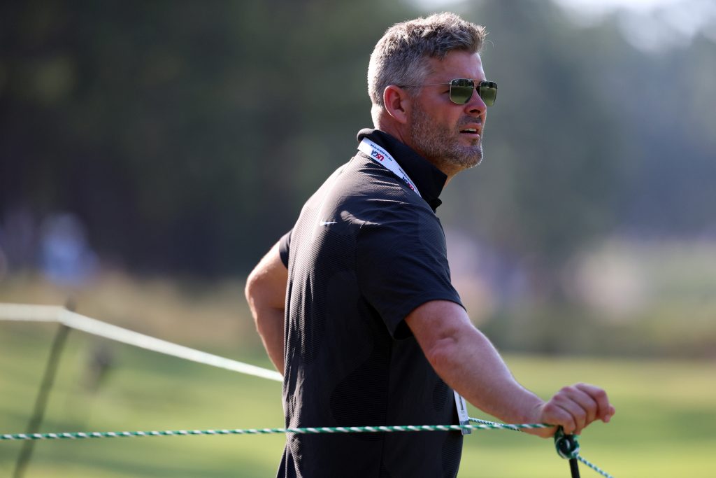
{"type": "Polygon", "coordinates": [[[253,262],[349,157],[386,27],[362,12],[398,15],[321,0],[1,9],[1,204],[77,211],[132,269],[208,274],[253,262]]]}

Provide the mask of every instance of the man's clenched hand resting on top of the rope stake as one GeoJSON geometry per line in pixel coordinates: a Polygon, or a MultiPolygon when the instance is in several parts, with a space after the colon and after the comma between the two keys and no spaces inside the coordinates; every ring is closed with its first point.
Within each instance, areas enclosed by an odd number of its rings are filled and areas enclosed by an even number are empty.
{"type": "MultiPolygon", "coordinates": [[[[604,390],[588,383],[577,383],[562,388],[548,402],[538,406],[534,423],[561,426],[565,434],[578,435],[595,420],[609,423],[614,413],[616,410],[604,390]]],[[[552,427],[530,432],[548,438],[555,431],[552,427]]]]}

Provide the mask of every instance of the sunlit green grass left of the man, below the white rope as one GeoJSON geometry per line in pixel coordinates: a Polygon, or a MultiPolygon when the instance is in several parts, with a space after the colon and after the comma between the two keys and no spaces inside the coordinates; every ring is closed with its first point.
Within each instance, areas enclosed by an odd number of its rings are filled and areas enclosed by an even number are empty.
{"type": "MultiPolygon", "coordinates": [[[[22,431],[32,410],[53,327],[0,323],[0,427],[22,431]]],[[[97,343],[71,333],[44,431],[120,431],[281,426],[281,384],[125,345],[96,391],[87,357],[97,343]]],[[[256,361],[256,360],[254,360],[256,361]]],[[[266,364],[264,364],[266,365],[266,364]]],[[[26,477],[263,477],[282,436],[170,437],[37,442],[26,477]]],[[[0,476],[20,444],[2,442],[0,476]]]]}

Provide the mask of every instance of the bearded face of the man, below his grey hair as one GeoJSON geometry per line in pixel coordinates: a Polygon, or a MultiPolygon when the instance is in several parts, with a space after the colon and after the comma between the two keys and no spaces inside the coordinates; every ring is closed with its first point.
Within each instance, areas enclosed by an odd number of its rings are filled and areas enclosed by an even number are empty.
{"type": "Polygon", "coordinates": [[[479,54],[450,52],[445,59],[428,60],[431,73],[416,95],[410,110],[410,146],[435,163],[448,176],[476,166],[483,158],[482,135],[487,107],[473,92],[465,105],[450,101],[450,80],[485,80],[479,54]]]}

